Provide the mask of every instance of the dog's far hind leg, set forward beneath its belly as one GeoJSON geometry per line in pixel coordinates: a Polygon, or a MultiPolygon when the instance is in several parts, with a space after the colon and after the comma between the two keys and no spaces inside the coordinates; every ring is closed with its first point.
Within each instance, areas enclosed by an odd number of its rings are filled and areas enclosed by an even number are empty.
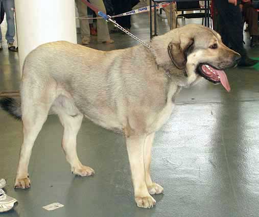
{"type": "MultiPolygon", "coordinates": [[[[64,98],[63,98],[64,102],[64,98]]],[[[70,108],[75,109],[75,106],[69,103],[69,100],[65,100],[66,105],[70,108]],[[68,103],[67,103],[68,102],[68,103]]],[[[69,109],[68,109],[69,110],[69,109]]],[[[76,114],[69,114],[67,108],[55,106],[60,122],[64,127],[64,134],[62,139],[62,148],[64,150],[66,160],[71,165],[72,173],[79,176],[91,176],[95,174],[95,171],[88,166],[82,165],[77,155],[77,134],[81,127],[83,115],[77,110],[76,114]]]]}

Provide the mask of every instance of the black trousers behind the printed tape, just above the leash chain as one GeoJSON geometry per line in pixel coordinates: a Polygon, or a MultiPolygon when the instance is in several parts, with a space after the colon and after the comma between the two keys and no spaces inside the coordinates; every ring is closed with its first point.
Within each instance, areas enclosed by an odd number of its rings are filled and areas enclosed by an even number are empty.
{"type": "MultiPolygon", "coordinates": [[[[121,14],[132,10],[131,1],[125,0],[112,0],[114,14],[121,14]]],[[[115,21],[124,28],[131,28],[130,16],[116,17],[115,21]]]]}

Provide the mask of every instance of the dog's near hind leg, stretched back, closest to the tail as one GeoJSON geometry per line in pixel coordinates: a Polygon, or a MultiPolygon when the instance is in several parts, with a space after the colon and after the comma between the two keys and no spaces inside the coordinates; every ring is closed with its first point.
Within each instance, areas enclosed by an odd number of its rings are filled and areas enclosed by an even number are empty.
{"type": "MultiPolygon", "coordinates": [[[[53,100],[48,98],[42,103],[42,97],[48,97],[48,92],[39,94],[36,98],[28,97],[22,99],[22,124],[23,124],[23,142],[20,150],[20,159],[15,179],[15,188],[29,188],[31,182],[28,176],[28,165],[32,153],[33,144],[40,132],[51,107],[53,100]]],[[[53,95],[53,94],[51,94],[53,95]]]]}

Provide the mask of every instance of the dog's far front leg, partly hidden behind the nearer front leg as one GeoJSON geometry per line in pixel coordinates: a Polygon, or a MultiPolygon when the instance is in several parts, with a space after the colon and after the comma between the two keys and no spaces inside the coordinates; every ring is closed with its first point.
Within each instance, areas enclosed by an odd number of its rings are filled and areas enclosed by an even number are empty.
{"type": "Polygon", "coordinates": [[[146,184],[150,195],[161,194],[163,192],[162,186],[152,182],[151,175],[150,175],[151,149],[152,149],[154,137],[155,137],[155,133],[149,134],[144,144],[145,176],[146,176],[146,184]]]}

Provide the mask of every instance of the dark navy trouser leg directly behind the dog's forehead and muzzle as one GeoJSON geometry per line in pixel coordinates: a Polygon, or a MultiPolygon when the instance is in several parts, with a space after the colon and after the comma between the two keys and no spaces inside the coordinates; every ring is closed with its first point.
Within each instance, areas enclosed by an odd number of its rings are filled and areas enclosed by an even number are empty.
{"type": "Polygon", "coordinates": [[[243,45],[243,22],[239,5],[229,4],[227,0],[216,0],[215,8],[219,15],[219,33],[223,43],[244,58],[247,54],[243,45]]]}

